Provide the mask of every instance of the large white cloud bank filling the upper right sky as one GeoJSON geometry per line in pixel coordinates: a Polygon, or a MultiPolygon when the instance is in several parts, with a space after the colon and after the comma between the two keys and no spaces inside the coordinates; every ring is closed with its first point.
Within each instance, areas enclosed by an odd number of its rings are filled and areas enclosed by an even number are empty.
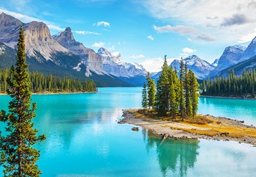
{"type": "MultiPolygon", "coordinates": [[[[172,22],[173,26],[163,26],[164,28],[155,26],[158,32],[179,31],[181,33],[181,30],[175,31],[175,25],[182,24],[188,28],[200,29],[199,34],[196,34],[197,40],[230,44],[237,42],[242,36],[249,35],[253,32],[251,30],[255,30],[255,0],[232,0],[225,1],[224,4],[223,0],[144,0],[136,2],[154,18],[172,22]],[[248,33],[248,31],[251,32],[248,33]],[[206,33],[211,37],[202,35],[206,33]]],[[[182,33],[187,34],[189,31],[185,30],[182,33]]],[[[190,37],[190,39],[193,38],[190,37]]]]}

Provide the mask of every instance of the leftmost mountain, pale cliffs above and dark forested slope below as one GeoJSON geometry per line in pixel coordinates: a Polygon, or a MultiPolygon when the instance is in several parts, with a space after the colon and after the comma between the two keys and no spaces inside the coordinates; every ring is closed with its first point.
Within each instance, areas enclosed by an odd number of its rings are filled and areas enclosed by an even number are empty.
{"type": "Polygon", "coordinates": [[[81,65],[83,60],[80,56],[54,40],[49,28],[43,22],[25,24],[5,13],[0,14],[0,69],[9,68],[15,62],[20,25],[24,28],[26,56],[30,71],[51,73],[61,77],[93,79],[98,87],[134,86],[115,76],[98,75],[96,71],[90,71],[91,76],[86,77],[89,67],[81,65]]]}

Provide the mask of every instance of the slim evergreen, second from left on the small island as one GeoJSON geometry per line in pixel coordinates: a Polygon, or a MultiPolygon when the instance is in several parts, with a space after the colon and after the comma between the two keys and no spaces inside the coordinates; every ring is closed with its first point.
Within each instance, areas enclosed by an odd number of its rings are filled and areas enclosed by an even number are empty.
{"type": "Polygon", "coordinates": [[[155,98],[156,98],[156,85],[154,79],[150,78],[150,73],[146,76],[148,85],[148,108],[154,109],[155,98]]]}

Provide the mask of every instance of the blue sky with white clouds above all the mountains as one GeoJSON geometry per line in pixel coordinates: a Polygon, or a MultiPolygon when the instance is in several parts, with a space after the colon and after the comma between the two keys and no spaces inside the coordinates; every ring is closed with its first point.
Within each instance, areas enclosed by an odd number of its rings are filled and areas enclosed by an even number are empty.
{"type": "Polygon", "coordinates": [[[22,22],[41,21],[51,34],[72,28],[76,41],[120,52],[125,62],[159,71],[196,54],[213,62],[225,47],[256,35],[256,1],[221,0],[1,0],[0,13],[22,22]]]}

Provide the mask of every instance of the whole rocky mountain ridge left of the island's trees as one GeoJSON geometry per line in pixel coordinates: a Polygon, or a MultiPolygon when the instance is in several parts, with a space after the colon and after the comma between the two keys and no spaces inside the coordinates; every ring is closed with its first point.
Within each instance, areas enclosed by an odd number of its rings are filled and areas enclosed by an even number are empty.
{"type": "MultiPolygon", "coordinates": [[[[94,79],[104,87],[139,86],[145,80],[146,70],[142,66],[123,62],[121,54],[117,52],[109,52],[111,62],[103,61],[106,58],[75,41],[71,28],[52,36],[43,22],[25,24],[5,13],[0,14],[0,43],[3,43],[3,47],[6,45],[11,47],[9,50],[16,50],[21,25],[30,71],[94,79]]],[[[5,52],[4,48],[1,49],[2,53],[5,52]]],[[[6,56],[2,61],[5,67],[11,64],[6,56]]]]}

